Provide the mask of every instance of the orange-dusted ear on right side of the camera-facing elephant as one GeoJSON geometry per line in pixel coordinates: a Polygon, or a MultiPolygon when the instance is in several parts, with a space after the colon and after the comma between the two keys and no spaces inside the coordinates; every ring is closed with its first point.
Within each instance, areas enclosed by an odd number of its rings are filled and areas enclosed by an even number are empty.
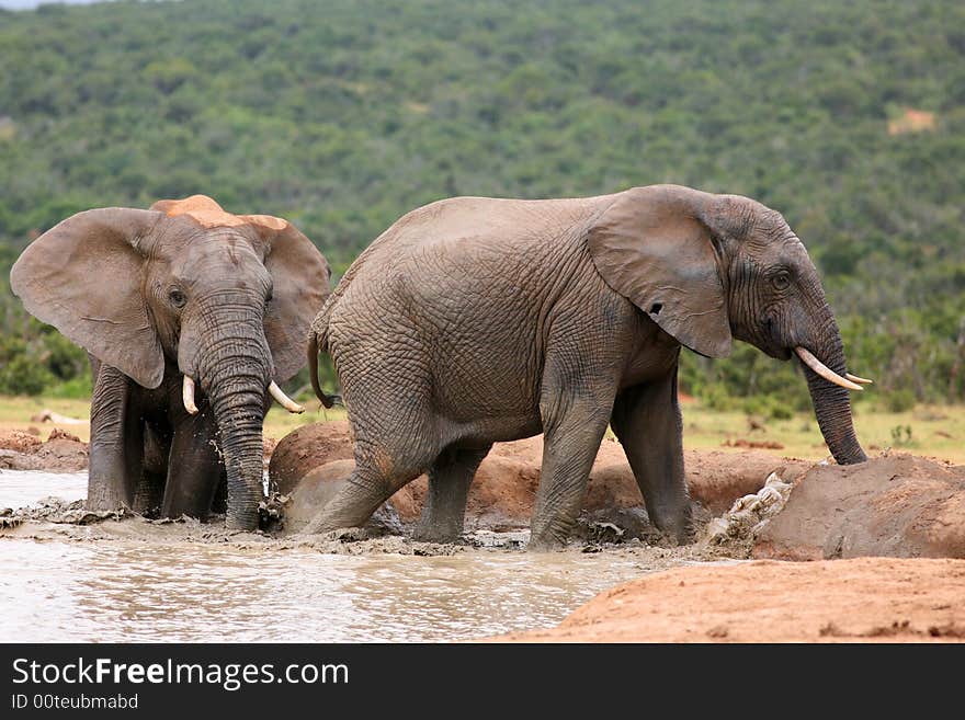
{"type": "Polygon", "coordinates": [[[328,297],[331,271],[311,240],[287,220],[271,215],[238,217],[265,242],[264,266],[273,290],[264,313],[264,336],[275,379],[284,382],[305,365],[308,328],[328,297]]]}

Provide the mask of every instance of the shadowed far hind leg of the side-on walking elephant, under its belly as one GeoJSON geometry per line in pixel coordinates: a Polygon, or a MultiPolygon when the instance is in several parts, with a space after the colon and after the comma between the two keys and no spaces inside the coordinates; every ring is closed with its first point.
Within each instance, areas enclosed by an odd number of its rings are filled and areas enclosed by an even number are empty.
{"type": "Polygon", "coordinates": [[[491,447],[452,448],[436,458],[429,470],[429,493],[416,528],[416,539],[452,542],[462,535],[469,485],[491,447]]]}

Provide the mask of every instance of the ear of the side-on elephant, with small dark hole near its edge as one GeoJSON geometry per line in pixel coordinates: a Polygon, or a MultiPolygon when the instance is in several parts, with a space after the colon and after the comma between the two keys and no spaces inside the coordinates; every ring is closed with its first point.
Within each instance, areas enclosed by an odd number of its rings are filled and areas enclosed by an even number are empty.
{"type": "Polygon", "coordinates": [[[665,332],[708,357],[730,354],[730,323],[713,233],[713,195],[679,185],[634,187],[589,230],[597,271],[665,332]]]}

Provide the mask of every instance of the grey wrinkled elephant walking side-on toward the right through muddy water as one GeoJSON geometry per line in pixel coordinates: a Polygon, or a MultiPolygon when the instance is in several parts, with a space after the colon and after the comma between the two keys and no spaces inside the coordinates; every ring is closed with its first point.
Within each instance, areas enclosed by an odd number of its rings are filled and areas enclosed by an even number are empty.
{"type": "MultiPolygon", "coordinates": [[[[363,524],[428,471],[419,536],[451,540],[492,443],[542,432],[531,547],[559,546],[609,423],[650,517],[685,541],[680,347],[723,356],[731,336],[845,369],[804,245],[754,201],[658,185],[419,208],[356,260],[313,323],[309,367],[317,348],[334,361],[356,468],[308,532],[363,524]]],[[[805,374],[833,456],[865,460],[847,391],[805,374]]]]}

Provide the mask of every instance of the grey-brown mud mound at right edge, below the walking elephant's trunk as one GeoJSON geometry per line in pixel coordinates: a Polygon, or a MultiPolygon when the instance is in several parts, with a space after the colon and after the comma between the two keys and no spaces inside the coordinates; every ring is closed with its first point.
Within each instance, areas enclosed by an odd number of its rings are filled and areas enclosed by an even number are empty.
{"type": "Polygon", "coordinates": [[[762,528],[753,555],[965,558],[965,466],[911,455],[815,466],[762,528]]]}

